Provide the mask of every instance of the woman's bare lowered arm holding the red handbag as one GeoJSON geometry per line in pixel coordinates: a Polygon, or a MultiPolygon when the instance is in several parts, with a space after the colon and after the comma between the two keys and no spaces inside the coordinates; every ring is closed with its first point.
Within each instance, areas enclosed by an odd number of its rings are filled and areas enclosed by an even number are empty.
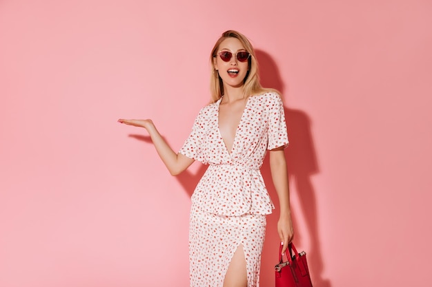
{"type": "Polygon", "coordinates": [[[277,222],[277,232],[283,242],[282,253],[285,253],[288,243],[293,240],[293,222],[291,221],[291,208],[288,187],[288,171],[284,147],[272,149],[270,152],[270,169],[273,184],[279,197],[280,216],[277,222]]]}

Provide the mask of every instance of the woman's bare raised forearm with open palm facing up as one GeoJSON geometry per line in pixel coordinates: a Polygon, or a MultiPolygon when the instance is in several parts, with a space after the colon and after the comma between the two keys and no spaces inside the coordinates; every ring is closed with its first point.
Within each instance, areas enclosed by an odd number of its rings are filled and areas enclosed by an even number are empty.
{"type": "Polygon", "coordinates": [[[157,131],[152,120],[119,119],[118,122],[125,125],[133,125],[135,127],[144,127],[148,131],[159,157],[164,162],[172,176],[177,176],[194,162],[192,158],[188,158],[181,153],[175,153],[164,138],[162,138],[161,134],[159,134],[159,131],[157,131]]]}

